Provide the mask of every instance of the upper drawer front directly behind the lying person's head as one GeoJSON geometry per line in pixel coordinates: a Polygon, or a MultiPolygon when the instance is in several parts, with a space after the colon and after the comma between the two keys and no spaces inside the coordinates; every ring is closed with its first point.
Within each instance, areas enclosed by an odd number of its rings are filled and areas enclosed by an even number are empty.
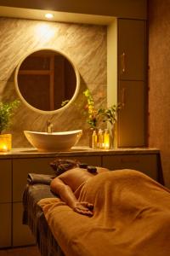
{"type": "MultiPolygon", "coordinates": [[[[58,157],[59,159],[80,160],[88,165],[101,166],[99,156],[79,156],[79,157],[58,157]]],[[[23,191],[27,182],[29,172],[54,174],[49,163],[56,158],[37,158],[13,160],[13,201],[22,201],[23,191]]]]}

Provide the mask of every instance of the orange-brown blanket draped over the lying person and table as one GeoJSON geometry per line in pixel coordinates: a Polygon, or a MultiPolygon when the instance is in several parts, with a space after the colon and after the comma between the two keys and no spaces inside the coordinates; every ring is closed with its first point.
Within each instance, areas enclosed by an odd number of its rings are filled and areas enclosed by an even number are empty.
{"type": "Polygon", "coordinates": [[[59,199],[42,199],[48,225],[66,256],[170,255],[170,190],[133,170],[101,173],[82,186],[92,218],[59,199]]]}

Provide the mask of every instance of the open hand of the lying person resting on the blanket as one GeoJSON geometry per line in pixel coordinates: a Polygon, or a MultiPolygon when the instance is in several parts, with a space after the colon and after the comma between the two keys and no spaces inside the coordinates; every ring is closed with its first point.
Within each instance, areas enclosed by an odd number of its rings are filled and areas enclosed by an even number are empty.
{"type": "Polygon", "coordinates": [[[73,207],[73,210],[77,213],[87,215],[89,217],[92,217],[94,215],[93,213],[94,205],[91,203],[88,203],[88,201],[77,201],[73,207]]]}

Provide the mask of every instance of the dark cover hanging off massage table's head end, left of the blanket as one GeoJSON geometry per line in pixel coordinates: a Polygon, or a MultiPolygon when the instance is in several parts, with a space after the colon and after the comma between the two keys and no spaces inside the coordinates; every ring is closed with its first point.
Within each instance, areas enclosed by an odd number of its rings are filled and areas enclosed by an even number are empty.
{"type": "Polygon", "coordinates": [[[55,197],[51,193],[48,184],[36,183],[26,185],[23,195],[23,224],[28,225],[31,229],[42,256],[64,256],[51,230],[48,228],[42,208],[37,205],[38,201],[46,197],[55,197]]]}

